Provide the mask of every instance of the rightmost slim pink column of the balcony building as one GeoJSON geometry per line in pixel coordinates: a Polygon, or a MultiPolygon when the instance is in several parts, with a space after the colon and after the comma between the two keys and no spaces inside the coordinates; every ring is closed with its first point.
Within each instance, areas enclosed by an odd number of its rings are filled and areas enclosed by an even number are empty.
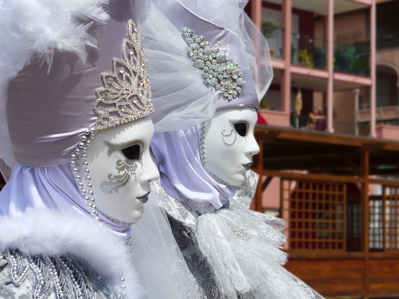
{"type": "Polygon", "coordinates": [[[375,0],[372,0],[371,11],[370,11],[370,76],[371,76],[371,88],[370,88],[370,136],[375,137],[375,94],[377,89],[376,74],[375,74],[375,48],[376,48],[376,16],[375,16],[375,0]]]}

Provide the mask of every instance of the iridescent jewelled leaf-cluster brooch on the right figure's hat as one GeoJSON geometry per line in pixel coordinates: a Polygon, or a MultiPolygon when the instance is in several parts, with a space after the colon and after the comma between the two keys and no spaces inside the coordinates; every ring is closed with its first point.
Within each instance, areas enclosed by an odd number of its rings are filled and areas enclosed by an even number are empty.
{"type": "Polygon", "coordinates": [[[190,45],[188,53],[194,60],[194,66],[202,69],[204,83],[223,91],[223,96],[229,100],[240,94],[241,86],[245,84],[241,78],[243,77],[241,65],[227,58],[224,51],[219,51],[220,41],[215,45],[204,43],[203,36],[194,34],[194,30],[184,28],[183,31],[186,42],[190,45]]]}

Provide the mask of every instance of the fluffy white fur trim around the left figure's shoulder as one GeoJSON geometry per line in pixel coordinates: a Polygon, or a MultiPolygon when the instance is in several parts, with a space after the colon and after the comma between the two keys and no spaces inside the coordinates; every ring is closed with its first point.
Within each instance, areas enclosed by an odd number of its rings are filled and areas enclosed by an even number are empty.
{"type": "Polygon", "coordinates": [[[1,217],[0,252],[7,248],[27,256],[70,254],[88,262],[116,288],[123,275],[127,298],[142,295],[128,246],[105,224],[74,210],[28,209],[21,217],[1,217]]]}

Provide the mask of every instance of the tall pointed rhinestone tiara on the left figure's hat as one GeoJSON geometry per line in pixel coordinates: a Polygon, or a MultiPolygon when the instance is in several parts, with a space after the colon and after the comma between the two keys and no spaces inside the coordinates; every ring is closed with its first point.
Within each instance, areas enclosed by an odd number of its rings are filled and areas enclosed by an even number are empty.
{"type": "Polygon", "coordinates": [[[103,88],[96,89],[95,130],[132,122],[154,112],[144,46],[136,25],[129,20],[130,39],[123,39],[123,59],[113,59],[113,73],[101,74],[103,88]]]}

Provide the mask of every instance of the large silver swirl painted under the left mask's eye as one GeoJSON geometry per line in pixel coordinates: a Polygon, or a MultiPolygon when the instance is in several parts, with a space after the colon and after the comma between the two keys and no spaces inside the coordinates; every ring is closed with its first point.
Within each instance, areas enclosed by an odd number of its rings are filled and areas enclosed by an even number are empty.
{"type": "Polygon", "coordinates": [[[127,183],[130,182],[132,177],[134,176],[134,181],[137,181],[136,170],[138,168],[138,164],[141,165],[141,169],[143,168],[143,163],[140,160],[136,160],[133,162],[126,160],[118,160],[117,166],[115,167],[118,171],[117,175],[113,175],[109,173],[108,179],[109,181],[101,182],[101,189],[103,193],[110,194],[115,191],[118,193],[118,189],[126,186],[127,183]]]}

